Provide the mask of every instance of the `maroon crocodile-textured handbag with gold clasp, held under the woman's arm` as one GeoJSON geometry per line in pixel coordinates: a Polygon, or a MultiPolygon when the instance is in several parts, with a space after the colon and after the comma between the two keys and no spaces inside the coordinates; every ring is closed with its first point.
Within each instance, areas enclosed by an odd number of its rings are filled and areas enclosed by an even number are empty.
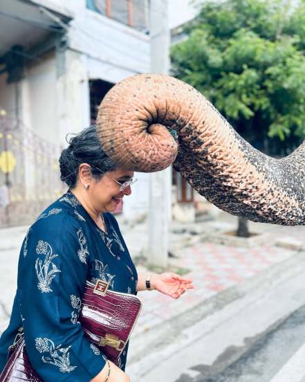
{"type": "MultiPolygon", "coordinates": [[[[116,365],[142,308],[136,295],[108,290],[109,284],[98,280],[86,282],[79,320],[86,338],[116,365]]],[[[0,382],[43,382],[33,370],[26,354],[22,328],[10,346],[8,362],[0,382]]]]}

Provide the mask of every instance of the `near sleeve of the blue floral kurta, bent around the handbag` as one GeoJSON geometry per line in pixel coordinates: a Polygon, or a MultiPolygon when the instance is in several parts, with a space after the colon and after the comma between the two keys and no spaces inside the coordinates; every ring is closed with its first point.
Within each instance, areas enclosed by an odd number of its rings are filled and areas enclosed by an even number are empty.
{"type": "Polygon", "coordinates": [[[107,361],[78,322],[89,257],[88,237],[73,219],[41,219],[28,232],[21,318],[30,363],[45,382],[90,381],[107,361]]]}

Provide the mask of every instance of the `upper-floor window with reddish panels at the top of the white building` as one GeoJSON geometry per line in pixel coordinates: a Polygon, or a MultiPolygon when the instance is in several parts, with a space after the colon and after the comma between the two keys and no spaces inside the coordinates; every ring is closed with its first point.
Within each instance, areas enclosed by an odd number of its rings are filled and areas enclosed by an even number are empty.
{"type": "Polygon", "coordinates": [[[86,6],[143,33],[149,32],[149,0],[86,0],[86,6]]]}

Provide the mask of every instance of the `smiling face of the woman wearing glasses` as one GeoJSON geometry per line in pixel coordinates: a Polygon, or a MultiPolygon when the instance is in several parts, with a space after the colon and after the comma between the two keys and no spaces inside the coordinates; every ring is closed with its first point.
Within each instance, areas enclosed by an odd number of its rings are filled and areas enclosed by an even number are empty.
{"type": "Polygon", "coordinates": [[[114,212],[125,195],[131,194],[130,185],[120,191],[120,184],[129,181],[133,177],[133,171],[118,170],[109,171],[99,181],[91,182],[89,193],[91,203],[99,212],[114,212]]]}

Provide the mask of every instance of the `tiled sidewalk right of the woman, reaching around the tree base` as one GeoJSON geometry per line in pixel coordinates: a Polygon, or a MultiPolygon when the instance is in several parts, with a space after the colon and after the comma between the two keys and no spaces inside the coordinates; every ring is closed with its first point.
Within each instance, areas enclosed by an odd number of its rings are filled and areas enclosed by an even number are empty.
{"type": "MultiPolygon", "coordinates": [[[[178,234],[171,233],[171,246],[175,248],[174,242],[176,249],[174,249],[175,257],[169,259],[169,269],[182,271],[187,278],[193,280],[195,289],[188,291],[178,300],[168,298],[156,291],[139,293],[138,296],[143,302],[143,307],[133,331],[133,338],[151,330],[165,320],[196,307],[217,293],[288,259],[295,253],[295,250],[275,246],[275,242],[283,239],[284,234],[294,238],[291,240],[292,243],[300,242],[302,239],[305,246],[305,227],[275,227],[266,224],[254,224],[256,231],[259,231],[257,226],[260,226],[263,232],[266,232],[266,227],[268,227],[270,242],[263,245],[243,248],[214,244],[209,241],[209,235],[215,233],[216,230],[234,228],[236,224],[236,219],[223,215],[219,221],[188,225],[188,230],[191,232],[194,226],[199,225],[202,232],[198,235],[186,233],[184,237],[177,238],[178,234]],[[190,246],[183,245],[183,242],[187,242],[187,237],[190,239],[190,246]],[[181,242],[180,248],[179,241],[181,242]]],[[[178,230],[177,228],[182,228],[183,224],[175,224],[175,226],[178,230]]],[[[136,237],[137,234],[140,235],[140,232],[141,227],[138,231],[133,229],[132,233],[124,235],[129,248],[132,248],[133,242],[136,246],[138,245],[139,241],[136,237]]],[[[149,269],[142,264],[138,265],[138,270],[149,273],[149,269]]]]}

